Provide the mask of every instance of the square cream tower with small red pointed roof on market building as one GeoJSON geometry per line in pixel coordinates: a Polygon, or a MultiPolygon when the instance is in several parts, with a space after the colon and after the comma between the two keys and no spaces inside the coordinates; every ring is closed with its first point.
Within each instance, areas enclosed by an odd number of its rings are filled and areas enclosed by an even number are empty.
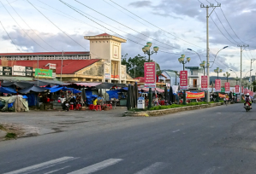
{"type": "Polygon", "coordinates": [[[104,60],[104,82],[126,83],[126,66],[121,65],[123,38],[108,33],[85,36],[90,40],[91,59],[104,60]]]}

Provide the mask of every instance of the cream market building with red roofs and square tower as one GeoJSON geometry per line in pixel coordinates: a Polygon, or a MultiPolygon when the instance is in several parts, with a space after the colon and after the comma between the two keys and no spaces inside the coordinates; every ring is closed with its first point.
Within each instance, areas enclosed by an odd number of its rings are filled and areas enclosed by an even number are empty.
{"type": "MultiPolygon", "coordinates": [[[[33,80],[47,78],[64,82],[109,82],[115,84],[134,84],[126,66],[121,64],[122,43],[125,39],[107,33],[97,36],[85,36],[90,40],[90,52],[40,52],[40,53],[1,53],[0,63],[5,67],[33,67],[33,76],[26,72],[17,76],[0,69],[0,79],[33,80]],[[63,66],[62,66],[63,65],[63,66]],[[49,69],[49,76],[36,74],[36,69],[49,69]],[[22,75],[21,75],[22,74],[22,75]]],[[[45,71],[46,71],[45,70],[45,71]]],[[[24,68],[25,71],[25,68],[24,68]]],[[[37,72],[38,73],[38,72],[37,72]]]]}

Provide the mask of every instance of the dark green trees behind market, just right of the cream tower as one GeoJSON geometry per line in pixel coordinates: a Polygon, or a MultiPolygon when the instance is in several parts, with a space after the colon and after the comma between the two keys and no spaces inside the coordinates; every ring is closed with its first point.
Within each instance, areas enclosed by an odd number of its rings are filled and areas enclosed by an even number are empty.
{"type": "MultiPolygon", "coordinates": [[[[132,78],[144,77],[144,63],[148,62],[146,56],[136,55],[134,58],[129,57],[128,54],[122,55],[122,65],[126,65],[127,72],[132,78]]],[[[161,68],[156,63],[157,74],[161,74],[161,68]]]]}

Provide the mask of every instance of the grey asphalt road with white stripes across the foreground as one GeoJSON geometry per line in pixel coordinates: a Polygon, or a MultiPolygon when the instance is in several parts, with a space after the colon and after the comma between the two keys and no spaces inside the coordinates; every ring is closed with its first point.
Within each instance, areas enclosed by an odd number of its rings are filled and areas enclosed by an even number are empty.
{"type": "Polygon", "coordinates": [[[256,107],[211,107],[0,142],[0,173],[256,173],[256,107]]]}

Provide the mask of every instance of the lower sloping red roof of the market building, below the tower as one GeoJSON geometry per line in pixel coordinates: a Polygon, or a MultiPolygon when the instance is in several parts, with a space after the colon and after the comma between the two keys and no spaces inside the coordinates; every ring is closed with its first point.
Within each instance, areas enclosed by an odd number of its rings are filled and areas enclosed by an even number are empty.
{"type": "MultiPolygon", "coordinates": [[[[100,61],[99,59],[92,59],[92,60],[63,60],[63,74],[73,74],[80,69],[83,69],[85,67],[88,67],[92,65],[93,63],[100,61]]],[[[25,67],[37,67],[38,61],[13,61],[14,65],[16,66],[25,66],[25,67]]],[[[9,61],[9,67],[13,66],[12,61],[9,61]]],[[[2,65],[2,61],[0,60],[0,63],[2,65]]],[[[39,68],[42,69],[48,69],[48,67],[45,67],[48,63],[56,64],[56,73],[61,73],[61,66],[62,61],[61,60],[40,60],[39,61],[39,68]]]]}

